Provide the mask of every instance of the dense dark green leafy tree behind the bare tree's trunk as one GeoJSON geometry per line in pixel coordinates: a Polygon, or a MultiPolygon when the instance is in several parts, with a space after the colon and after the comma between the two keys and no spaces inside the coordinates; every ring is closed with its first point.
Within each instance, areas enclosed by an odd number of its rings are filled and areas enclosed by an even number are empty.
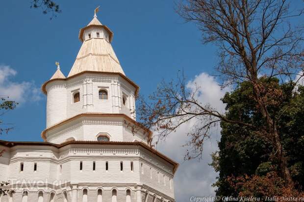
{"type": "MultiPolygon", "coordinates": [[[[295,188],[301,192],[304,187],[304,87],[300,86],[294,91],[292,82],[279,84],[279,80],[274,78],[270,81],[261,78],[260,82],[267,82],[267,93],[280,95],[277,96],[280,100],[269,100],[267,109],[270,116],[277,120],[287,167],[295,182],[295,188]]],[[[243,82],[233,92],[226,93],[222,99],[227,104],[226,118],[239,119],[255,127],[221,122],[219,152],[213,155],[212,163],[219,172],[215,183],[218,196],[241,196],[250,193],[252,196],[263,197],[290,192],[283,183],[279,183],[283,182],[283,179],[277,174],[279,167],[274,158],[277,150],[272,146],[272,140],[263,135],[265,122],[252,98],[252,84],[243,82]],[[272,181],[277,184],[271,184],[272,181]],[[260,191],[255,190],[253,186],[258,186],[260,191]]]]}

